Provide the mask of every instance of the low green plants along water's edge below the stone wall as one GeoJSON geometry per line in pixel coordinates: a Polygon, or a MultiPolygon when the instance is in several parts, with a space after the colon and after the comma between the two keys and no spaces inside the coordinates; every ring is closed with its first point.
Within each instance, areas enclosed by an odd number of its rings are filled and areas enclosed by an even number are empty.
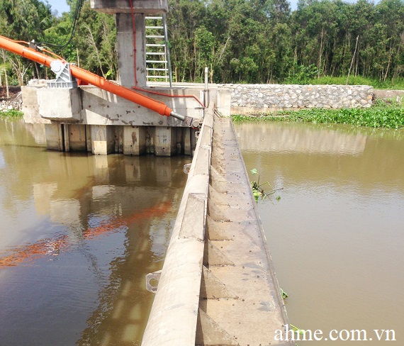
{"type": "Polygon", "coordinates": [[[372,128],[404,128],[404,105],[398,101],[376,100],[370,108],[310,108],[275,113],[251,113],[232,116],[233,121],[295,121],[306,123],[342,123],[372,128]]]}

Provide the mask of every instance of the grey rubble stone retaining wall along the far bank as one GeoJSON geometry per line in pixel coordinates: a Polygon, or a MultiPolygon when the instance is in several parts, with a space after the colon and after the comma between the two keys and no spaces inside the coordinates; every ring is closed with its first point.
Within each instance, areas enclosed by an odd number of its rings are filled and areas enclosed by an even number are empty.
{"type": "Polygon", "coordinates": [[[302,108],[366,108],[373,87],[361,85],[225,84],[231,91],[231,113],[302,108]]]}

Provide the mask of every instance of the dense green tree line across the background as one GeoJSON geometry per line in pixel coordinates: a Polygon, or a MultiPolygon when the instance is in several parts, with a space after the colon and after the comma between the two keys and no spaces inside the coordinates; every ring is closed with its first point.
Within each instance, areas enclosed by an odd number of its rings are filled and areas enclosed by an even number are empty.
{"type": "MultiPolygon", "coordinates": [[[[72,11],[57,18],[38,0],[0,0],[0,33],[53,48],[69,35],[77,0],[69,4],[72,11]]],[[[404,77],[404,0],[299,0],[296,11],[286,0],[169,0],[167,22],[178,82],[201,81],[205,66],[220,83],[404,77]]],[[[76,34],[60,54],[114,79],[115,41],[113,16],[84,1],[76,34]]],[[[43,67],[6,52],[1,63],[14,82],[46,77],[43,67]]]]}

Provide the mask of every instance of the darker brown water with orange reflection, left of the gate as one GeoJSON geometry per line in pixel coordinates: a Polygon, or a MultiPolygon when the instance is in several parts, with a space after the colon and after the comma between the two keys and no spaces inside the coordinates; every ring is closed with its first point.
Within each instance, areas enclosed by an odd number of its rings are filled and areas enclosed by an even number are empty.
{"type": "Polygon", "coordinates": [[[44,145],[0,119],[0,345],[140,345],[191,159],[44,145]]]}

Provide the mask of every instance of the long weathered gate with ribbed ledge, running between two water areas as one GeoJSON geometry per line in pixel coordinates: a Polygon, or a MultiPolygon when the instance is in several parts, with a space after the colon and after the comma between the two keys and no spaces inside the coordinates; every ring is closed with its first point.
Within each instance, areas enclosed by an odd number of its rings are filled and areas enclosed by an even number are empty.
{"type": "MultiPolygon", "coordinates": [[[[230,118],[210,109],[161,272],[143,346],[294,345],[230,118]]],[[[157,279],[157,286],[150,281],[157,279]]]]}

